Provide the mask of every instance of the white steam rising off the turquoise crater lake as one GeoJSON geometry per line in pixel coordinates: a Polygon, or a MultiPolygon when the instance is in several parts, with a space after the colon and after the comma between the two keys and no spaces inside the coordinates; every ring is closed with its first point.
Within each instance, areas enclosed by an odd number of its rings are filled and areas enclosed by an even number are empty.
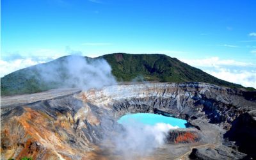
{"type": "Polygon", "coordinates": [[[161,147],[170,129],[177,129],[170,124],[141,124],[136,121],[124,123],[124,131],[114,138],[115,152],[124,159],[147,156],[154,148],[161,147]]]}

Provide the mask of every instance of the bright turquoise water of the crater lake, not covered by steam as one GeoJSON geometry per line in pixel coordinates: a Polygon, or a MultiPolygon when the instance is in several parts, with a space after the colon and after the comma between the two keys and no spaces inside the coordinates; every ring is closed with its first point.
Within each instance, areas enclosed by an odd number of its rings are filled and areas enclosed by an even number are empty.
{"type": "Polygon", "coordinates": [[[156,125],[158,123],[170,124],[173,127],[178,126],[180,128],[186,128],[186,120],[179,118],[173,118],[168,116],[156,115],[153,113],[135,113],[122,116],[118,121],[119,124],[126,123],[142,123],[147,125],[156,125]]]}

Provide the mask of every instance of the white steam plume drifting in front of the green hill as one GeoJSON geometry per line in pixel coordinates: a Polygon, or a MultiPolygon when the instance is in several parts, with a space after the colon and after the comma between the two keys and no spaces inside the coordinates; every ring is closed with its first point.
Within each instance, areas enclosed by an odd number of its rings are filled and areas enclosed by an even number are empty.
{"type": "Polygon", "coordinates": [[[104,59],[88,59],[83,56],[68,56],[58,63],[37,67],[40,78],[46,84],[58,87],[77,87],[83,90],[100,89],[116,84],[111,67],[104,59]]]}

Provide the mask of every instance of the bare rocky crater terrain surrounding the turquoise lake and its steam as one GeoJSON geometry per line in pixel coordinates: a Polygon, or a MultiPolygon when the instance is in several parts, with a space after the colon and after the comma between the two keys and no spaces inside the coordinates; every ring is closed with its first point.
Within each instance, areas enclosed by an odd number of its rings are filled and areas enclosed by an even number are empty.
{"type": "Polygon", "coordinates": [[[194,128],[170,131],[163,147],[137,159],[255,158],[246,148],[256,147],[255,92],[147,83],[63,93],[1,97],[1,159],[122,159],[111,141],[102,141],[123,130],[120,116],[138,112],[184,118],[194,128]],[[247,138],[239,140],[237,132],[247,138]]]}

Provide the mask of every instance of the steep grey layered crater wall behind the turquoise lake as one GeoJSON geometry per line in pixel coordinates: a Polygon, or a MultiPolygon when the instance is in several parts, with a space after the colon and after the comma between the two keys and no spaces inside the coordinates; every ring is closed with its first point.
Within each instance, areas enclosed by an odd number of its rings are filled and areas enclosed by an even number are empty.
{"type": "Polygon", "coordinates": [[[113,109],[116,117],[125,113],[165,113],[187,120],[206,116],[210,123],[219,124],[255,109],[255,100],[248,100],[252,95],[247,92],[205,83],[110,86],[86,92],[84,97],[96,106],[113,109]]]}

